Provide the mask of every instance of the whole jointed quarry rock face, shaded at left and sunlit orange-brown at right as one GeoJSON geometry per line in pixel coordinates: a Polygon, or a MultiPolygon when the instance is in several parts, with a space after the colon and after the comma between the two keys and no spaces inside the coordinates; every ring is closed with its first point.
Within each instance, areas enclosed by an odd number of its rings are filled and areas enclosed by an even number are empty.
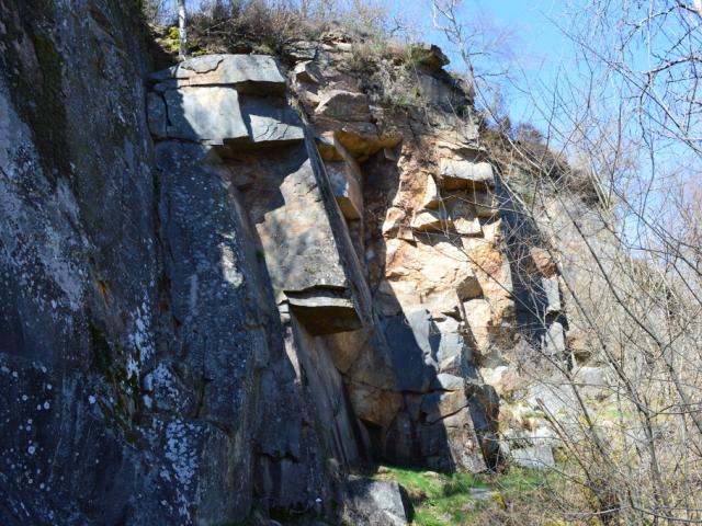
{"type": "Polygon", "coordinates": [[[427,118],[347,44],[149,72],[134,9],[0,3],[0,523],[406,524],[349,473],[495,467],[479,369],[508,376],[521,277],[445,56],[418,61],[427,118]]]}

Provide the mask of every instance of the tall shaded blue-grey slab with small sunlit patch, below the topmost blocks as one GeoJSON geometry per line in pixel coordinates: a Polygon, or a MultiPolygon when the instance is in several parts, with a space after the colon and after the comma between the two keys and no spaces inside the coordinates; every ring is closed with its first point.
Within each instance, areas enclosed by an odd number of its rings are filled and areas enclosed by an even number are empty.
{"type": "Polygon", "coordinates": [[[237,421],[251,411],[252,369],[268,352],[250,241],[233,196],[208,165],[212,148],[163,141],[156,153],[171,313],[181,323],[173,353],[181,370],[207,378],[199,414],[246,433],[237,421]]]}

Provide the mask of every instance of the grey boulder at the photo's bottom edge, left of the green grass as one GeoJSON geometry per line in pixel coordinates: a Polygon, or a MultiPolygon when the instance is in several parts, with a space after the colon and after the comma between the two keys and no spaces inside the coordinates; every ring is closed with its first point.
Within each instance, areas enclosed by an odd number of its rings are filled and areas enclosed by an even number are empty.
{"type": "Polygon", "coordinates": [[[403,488],[392,480],[353,477],[343,484],[342,524],[354,526],[406,526],[409,501],[403,488]]]}

